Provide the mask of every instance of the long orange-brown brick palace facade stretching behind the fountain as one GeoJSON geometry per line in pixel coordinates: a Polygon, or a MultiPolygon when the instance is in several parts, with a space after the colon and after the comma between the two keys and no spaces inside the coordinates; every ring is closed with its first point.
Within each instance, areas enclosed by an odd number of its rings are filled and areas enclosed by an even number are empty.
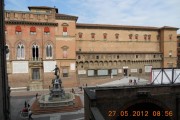
{"type": "Polygon", "coordinates": [[[57,8],[28,8],[5,11],[11,87],[48,88],[55,65],[65,87],[128,75],[149,79],[152,67],[177,66],[178,28],[83,24],[57,8]]]}

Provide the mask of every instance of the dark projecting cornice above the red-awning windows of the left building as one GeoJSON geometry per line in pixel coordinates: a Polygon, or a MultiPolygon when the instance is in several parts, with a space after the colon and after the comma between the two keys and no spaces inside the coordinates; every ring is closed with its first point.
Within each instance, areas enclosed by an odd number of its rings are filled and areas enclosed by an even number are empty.
{"type": "Polygon", "coordinates": [[[15,20],[8,20],[8,21],[6,20],[5,24],[58,26],[58,23],[53,23],[53,22],[31,22],[31,21],[15,21],[15,20]]]}

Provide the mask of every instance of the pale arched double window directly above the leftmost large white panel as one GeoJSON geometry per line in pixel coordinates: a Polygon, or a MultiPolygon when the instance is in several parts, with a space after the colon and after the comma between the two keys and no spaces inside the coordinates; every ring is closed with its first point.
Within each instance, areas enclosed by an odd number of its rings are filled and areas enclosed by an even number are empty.
{"type": "Polygon", "coordinates": [[[17,59],[25,59],[25,49],[22,43],[17,46],[17,59]]]}

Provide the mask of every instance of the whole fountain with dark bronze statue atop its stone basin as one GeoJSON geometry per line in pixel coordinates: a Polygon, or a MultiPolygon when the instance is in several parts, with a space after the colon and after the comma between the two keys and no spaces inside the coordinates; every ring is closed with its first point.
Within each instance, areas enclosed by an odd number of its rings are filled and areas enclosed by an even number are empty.
{"type": "Polygon", "coordinates": [[[56,65],[55,79],[52,79],[52,87],[49,88],[48,94],[42,95],[39,98],[40,107],[60,107],[60,106],[72,106],[74,105],[74,94],[65,93],[62,87],[62,81],[59,78],[59,68],[56,65]]]}

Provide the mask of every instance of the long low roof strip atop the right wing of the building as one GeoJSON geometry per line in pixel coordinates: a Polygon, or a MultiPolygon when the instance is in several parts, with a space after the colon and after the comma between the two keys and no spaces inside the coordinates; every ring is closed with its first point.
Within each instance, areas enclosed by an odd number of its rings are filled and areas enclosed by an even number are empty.
{"type": "Polygon", "coordinates": [[[104,28],[104,29],[141,29],[141,30],[159,30],[159,29],[179,29],[176,27],[164,26],[164,27],[151,27],[151,26],[130,26],[130,25],[113,25],[113,24],[87,24],[77,23],[77,28],[104,28]]]}

